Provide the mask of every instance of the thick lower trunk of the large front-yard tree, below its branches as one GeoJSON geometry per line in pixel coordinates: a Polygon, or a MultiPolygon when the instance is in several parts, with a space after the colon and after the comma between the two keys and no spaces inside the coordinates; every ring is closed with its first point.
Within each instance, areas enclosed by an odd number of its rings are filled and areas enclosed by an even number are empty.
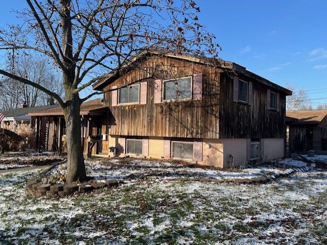
{"type": "Polygon", "coordinates": [[[78,94],[67,103],[65,108],[67,140],[66,182],[85,181],[86,172],[81,141],[80,99],[78,94]]]}

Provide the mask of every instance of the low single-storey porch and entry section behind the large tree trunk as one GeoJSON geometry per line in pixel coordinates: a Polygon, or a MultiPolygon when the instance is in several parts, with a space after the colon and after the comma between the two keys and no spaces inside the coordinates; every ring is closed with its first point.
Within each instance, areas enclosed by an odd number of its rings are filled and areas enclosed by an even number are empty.
{"type": "MultiPolygon", "coordinates": [[[[84,153],[108,155],[108,106],[102,99],[81,104],[81,138],[84,153]],[[89,139],[92,138],[92,140],[89,139]],[[93,144],[95,143],[95,144],[93,144]],[[91,147],[91,146],[95,147],[91,147]]],[[[66,152],[66,126],[61,107],[29,113],[36,128],[37,150],[66,152]]]]}

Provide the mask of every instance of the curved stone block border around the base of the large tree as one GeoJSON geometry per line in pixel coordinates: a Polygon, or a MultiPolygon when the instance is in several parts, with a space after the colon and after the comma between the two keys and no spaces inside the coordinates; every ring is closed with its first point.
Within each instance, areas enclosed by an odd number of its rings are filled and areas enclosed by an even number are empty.
{"type": "Polygon", "coordinates": [[[59,164],[63,164],[64,161],[56,162],[49,168],[43,170],[39,176],[33,177],[27,181],[27,191],[34,197],[65,197],[73,195],[75,193],[86,193],[94,189],[104,187],[118,186],[118,180],[106,180],[105,182],[90,180],[83,183],[69,183],[69,184],[52,184],[42,183],[42,177],[45,176],[50,170],[55,168],[59,164]]]}

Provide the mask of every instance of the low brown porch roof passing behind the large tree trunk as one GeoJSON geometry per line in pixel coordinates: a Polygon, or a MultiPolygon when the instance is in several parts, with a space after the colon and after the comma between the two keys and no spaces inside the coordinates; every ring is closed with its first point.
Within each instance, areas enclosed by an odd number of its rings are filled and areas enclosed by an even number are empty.
{"type": "MultiPolygon", "coordinates": [[[[80,115],[101,115],[105,112],[105,108],[108,106],[104,105],[102,99],[94,99],[85,101],[81,104],[80,115]],[[101,110],[103,109],[103,110],[101,110]]],[[[28,116],[63,116],[61,107],[55,107],[48,110],[42,110],[38,112],[29,113],[28,116]]]]}

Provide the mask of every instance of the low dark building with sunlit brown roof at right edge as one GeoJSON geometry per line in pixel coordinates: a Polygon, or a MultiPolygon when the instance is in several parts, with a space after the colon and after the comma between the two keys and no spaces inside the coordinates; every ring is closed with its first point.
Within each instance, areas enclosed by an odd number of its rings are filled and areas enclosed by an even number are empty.
{"type": "Polygon", "coordinates": [[[287,152],[327,151],[327,110],[287,111],[287,152]]]}

